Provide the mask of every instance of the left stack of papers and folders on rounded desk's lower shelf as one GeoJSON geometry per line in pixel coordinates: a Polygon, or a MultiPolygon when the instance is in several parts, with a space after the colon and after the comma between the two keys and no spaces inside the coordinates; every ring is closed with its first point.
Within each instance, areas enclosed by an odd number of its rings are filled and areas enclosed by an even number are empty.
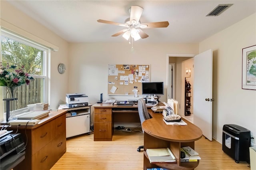
{"type": "Polygon", "coordinates": [[[150,163],[155,162],[176,162],[175,156],[170,148],[152,148],[146,150],[150,163]]]}

